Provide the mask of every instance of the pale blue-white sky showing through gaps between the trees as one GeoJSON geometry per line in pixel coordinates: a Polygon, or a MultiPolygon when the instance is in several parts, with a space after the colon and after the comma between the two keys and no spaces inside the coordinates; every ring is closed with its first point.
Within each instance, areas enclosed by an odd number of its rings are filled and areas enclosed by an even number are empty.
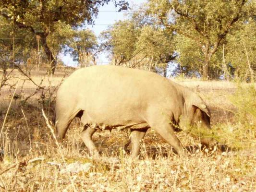
{"type": "MultiPolygon", "coordinates": [[[[139,4],[146,2],[146,0],[127,0],[130,6],[139,6],[139,4]]],[[[118,7],[116,8],[114,4],[110,1],[108,5],[104,5],[99,8],[98,16],[95,19],[95,25],[87,25],[96,36],[106,30],[109,25],[114,24],[116,21],[125,19],[125,11],[118,12],[118,7]]],[[[61,55],[61,60],[65,65],[77,67],[77,62],[73,61],[70,55],[61,55]]],[[[109,60],[106,53],[100,53],[98,55],[97,64],[108,64],[109,60]]]]}

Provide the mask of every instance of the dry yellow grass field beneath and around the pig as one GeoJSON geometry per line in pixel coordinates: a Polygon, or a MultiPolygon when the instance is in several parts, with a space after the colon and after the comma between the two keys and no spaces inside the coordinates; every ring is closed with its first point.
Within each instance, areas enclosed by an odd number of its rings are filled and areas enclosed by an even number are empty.
{"type": "MultiPolygon", "coordinates": [[[[33,81],[40,84],[42,78],[34,77],[33,81]]],[[[41,85],[47,89],[61,80],[60,76],[45,77],[41,85]]],[[[22,98],[37,88],[26,81],[18,85],[16,93],[22,97],[12,101],[8,114],[13,89],[0,92],[0,191],[256,191],[255,86],[197,79],[173,81],[202,96],[211,109],[213,136],[229,146],[230,151],[201,148],[198,138],[179,132],[182,143],[195,149],[193,154],[179,157],[158,134],[149,130],[140,159],[134,160],[122,149],[129,132],[114,130],[94,135],[101,158],[93,160],[80,139],[82,125],[78,120],[73,120],[65,142],[61,146],[56,144],[41,110],[44,100],[44,111],[51,120],[53,98],[49,99],[47,94],[42,98],[37,93],[21,105],[22,98]]],[[[54,97],[54,93],[50,96],[54,97]]]]}

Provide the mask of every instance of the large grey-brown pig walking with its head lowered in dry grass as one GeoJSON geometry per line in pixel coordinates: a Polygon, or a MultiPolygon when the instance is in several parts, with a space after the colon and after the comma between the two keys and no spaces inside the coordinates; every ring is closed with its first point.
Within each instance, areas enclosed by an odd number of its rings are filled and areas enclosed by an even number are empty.
{"type": "MultiPolygon", "coordinates": [[[[174,133],[176,125],[199,122],[201,128],[210,129],[210,111],[194,92],[153,72],[112,65],[73,72],[57,92],[55,115],[59,140],[73,118],[80,118],[84,124],[81,138],[95,157],[99,155],[92,135],[98,129],[129,128],[133,157],[138,155],[140,140],[149,128],[178,154],[185,150],[174,133]]],[[[202,144],[212,142],[201,138],[202,144]]]]}

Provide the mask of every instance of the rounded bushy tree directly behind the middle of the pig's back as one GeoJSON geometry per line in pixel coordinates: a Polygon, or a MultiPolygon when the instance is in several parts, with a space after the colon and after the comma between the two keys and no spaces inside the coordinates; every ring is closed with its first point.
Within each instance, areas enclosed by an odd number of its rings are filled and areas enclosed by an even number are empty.
{"type": "Polygon", "coordinates": [[[163,71],[166,76],[169,61],[176,57],[172,34],[158,27],[145,13],[139,8],[125,21],[109,27],[101,34],[103,47],[110,50],[110,59],[115,65],[163,71]]]}

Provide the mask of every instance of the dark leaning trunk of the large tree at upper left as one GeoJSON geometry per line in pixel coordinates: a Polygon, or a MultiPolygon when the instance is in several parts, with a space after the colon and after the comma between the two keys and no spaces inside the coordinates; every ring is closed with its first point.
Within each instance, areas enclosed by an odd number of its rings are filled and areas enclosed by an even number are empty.
{"type": "Polygon", "coordinates": [[[45,54],[47,55],[47,60],[49,61],[48,74],[54,74],[55,68],[57,65],[57,61],[53,57],[53,54],[47,45],[47,42],[46,42],[47,35],[45,35],[43,33],[40,33],[38,35],[41,36],[42,47],[44,48],[45,54]]]}

